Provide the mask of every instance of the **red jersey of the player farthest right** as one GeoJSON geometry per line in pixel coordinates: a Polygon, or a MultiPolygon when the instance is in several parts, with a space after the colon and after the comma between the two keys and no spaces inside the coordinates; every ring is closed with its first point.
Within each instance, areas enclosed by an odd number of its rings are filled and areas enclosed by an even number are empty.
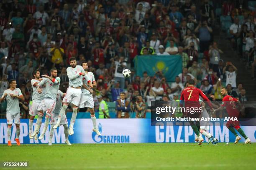
{"type": "Polygon", "coordinates": [[[221,106],[226,107],[226,110],[228,112],[228,116],[238,116],[239,110],[236,107],[236,102],[238,100],[230,95],[225,95],[222,99],[221,106]]]}

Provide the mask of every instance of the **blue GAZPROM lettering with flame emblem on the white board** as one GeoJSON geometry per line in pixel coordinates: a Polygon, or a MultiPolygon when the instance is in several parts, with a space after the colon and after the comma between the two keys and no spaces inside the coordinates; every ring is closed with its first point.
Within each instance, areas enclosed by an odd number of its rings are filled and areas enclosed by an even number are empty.
{"type": "MultiPolygon", "coordinates": [[[[102,126],[99,124],[98,130],[102,133],[102,126]]],[[[92,132],[92,140],[96,143],[130,143],[129,135],[101,135],[98,136],[96,132],[92,132]]]]}

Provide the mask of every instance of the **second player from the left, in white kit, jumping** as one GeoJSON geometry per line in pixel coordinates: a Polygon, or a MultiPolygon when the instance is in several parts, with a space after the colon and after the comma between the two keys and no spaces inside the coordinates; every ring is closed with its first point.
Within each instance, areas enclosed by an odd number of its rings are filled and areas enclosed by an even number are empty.
{"type": "MultiPolygon", "coordinates": [[[[33,137],[31,136],[32,134],[32,127],[33,127],[33,121],[34,121],[34,118],[35,116],[37,115],[38,111],[38,106],[39,104],[41,103],[41,101],[44,99],[44,86],[41,86],[41,90],[42,90],[42,93],[38,93],[37,91],[37,88],[36,88],[36,85],[41,81],[43,80],[42,78],[40,78],[40,72],[38,70],[35,70],[33,72],[33,76],[34,76],[34,79],[31,80],[31,85],[33,87],[33,93],[32,93],[32,105],[31,105],[31,108],[29,110],[29,115],[30,115],[30,118],[29,118],[29,122],[28,122],[28,135],[29,135],[29,138],[30,139],[33,139],[33,137]]],[[[34,136],[34,139],[37,140],[37,134],[34,136]]]]}

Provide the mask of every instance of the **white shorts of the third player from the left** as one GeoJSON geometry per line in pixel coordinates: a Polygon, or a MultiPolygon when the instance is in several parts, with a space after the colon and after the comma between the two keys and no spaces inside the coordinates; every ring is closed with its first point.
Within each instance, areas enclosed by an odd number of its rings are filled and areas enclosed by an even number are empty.
{"type": "Polygon", "coordinates": [[[52,112],[54,111],[56,106],[55,100],[51,98],[44,98],[44,100],[41,101],[40,105],[37,108],[37,111],[46,112],[46,115],[51,116],[52,112]]]}

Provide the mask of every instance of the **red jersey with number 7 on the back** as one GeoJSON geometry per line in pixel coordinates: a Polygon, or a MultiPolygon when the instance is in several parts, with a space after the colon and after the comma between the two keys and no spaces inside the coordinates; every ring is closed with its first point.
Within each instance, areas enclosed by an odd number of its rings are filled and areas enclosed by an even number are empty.
{"type": "Polygon", "coordinates": [[[185,107],[199,108],[201,106],[199,102],[199,96],[201,96],[204,101],[207,101],[207,103],[212,108],[212,103],[206,97],[206,95],[200,89],[194,86],[184,88],[180,95],[180,100],[185,102],[185,107]]]}

